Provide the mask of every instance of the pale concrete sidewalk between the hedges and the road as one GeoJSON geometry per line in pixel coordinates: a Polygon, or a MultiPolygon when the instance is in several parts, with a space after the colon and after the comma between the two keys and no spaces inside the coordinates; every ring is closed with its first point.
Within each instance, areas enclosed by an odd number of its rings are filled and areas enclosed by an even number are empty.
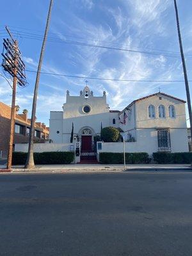
{"type": "MultiPolygon", "coordinates": [[[[5,166],[0,166],[2,170],[5,166]]],[[[192,172],[190,164],[55,164],[36,165],[35,169],[12,166],[12,173],[58,173],[58,172],[192,172]]]]}

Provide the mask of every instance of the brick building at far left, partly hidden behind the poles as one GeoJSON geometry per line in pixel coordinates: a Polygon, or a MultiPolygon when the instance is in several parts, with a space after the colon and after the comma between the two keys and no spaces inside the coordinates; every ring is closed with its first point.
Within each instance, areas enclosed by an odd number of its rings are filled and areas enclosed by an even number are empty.
{"type": "MultiPolygon", "coordinates": [[[[0,102],[0,152],[2,157],[6,157],[8,153],[8,140],[10,132],[10,106],[0,102]]],[[[16,114],[15,116],[15,134],[13,139],[13,147],[15,143],[28,143],[31,120],[28,114],[16,114]]],[[[49,127],[40,122],[35,123],[35,142],[44,143],[49,140],[49,127]]]]}

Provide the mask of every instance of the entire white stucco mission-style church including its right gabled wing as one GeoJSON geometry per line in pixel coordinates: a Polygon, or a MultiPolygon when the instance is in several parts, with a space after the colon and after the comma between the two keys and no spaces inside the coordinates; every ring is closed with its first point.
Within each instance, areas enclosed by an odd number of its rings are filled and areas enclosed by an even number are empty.
{"type": "Polygon", "coordinates": [[[63,111],[51,111],[50,139],[53,143],[70,143],[74,124],[81,152],[91,152],[95,150],[94,137],[100,135],[101,127],[113,126],[122,131],[126,141],[137,142],[137,152],[141,148],[149,154],[186,152],[185,103],[159,92],[134,100],[123,111],[113,111],[109,110],[105,92],[102,97],[95,97],[88,86],[79,96],[70,96],[67,91],[63,111]]]}

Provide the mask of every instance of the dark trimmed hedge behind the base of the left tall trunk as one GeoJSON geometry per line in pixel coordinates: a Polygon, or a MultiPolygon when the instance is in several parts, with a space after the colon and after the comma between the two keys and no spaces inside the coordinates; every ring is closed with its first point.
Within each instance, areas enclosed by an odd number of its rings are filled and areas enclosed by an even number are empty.
{"type": "MultiPolygon", "coordinates": [[[[27,153],[13,152],[12,164],[25,164],[27,153]]],[[[74,152],[42,152],[34,153],[35,164],[70,164],[74,161],[74,152]]]]}

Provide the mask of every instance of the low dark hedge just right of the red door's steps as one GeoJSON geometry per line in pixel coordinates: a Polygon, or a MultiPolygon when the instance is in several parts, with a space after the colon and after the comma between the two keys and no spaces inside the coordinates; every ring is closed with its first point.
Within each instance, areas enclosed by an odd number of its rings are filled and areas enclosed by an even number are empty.
{"type": "MultiPolygon", "coordinates": [[[[102,164],[123,164],[124,153],[99,153],[99,161],[102,164]]],[[[145,152],[140,153],[125,153],[125,163],[127,164],[145,164],[148,163],[148,154],[145,152]]]]}

